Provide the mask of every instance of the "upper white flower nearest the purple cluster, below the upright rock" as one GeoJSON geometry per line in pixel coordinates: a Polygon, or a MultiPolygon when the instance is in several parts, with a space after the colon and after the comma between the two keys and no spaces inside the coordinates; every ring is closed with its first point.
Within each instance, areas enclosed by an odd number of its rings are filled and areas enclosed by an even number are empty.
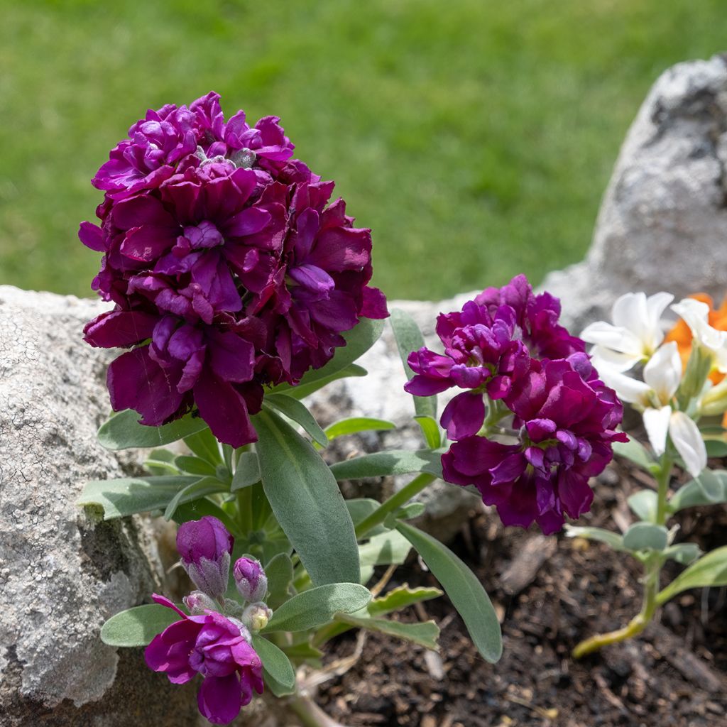
{"type": "Polygon", "coordinates": [[[594,343],[593,365],[628,371],[640,361],[648,361],[664,340],[662,313],[674,300],[670,293],[627,293],[614,303],[613,324],[597,321],[586,326],[581,338],[594,343]]]}

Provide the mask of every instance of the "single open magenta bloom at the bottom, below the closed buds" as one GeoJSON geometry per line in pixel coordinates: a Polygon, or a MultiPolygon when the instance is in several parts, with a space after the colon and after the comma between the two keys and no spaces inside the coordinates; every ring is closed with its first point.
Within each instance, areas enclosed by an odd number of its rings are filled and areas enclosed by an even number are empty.
{"type": "Polygon", "coordinates": [[[164,596],[153,594],[161,606],[181,616],[156,635],[144,656],[148,667],[166,672],[172,684],[203,678],[197,695],[199,711],[213,724],[229,724],[253,691],[262,694],[262,662],[250,646],[246,627],[215,611],[187,616],[164,596]]]}

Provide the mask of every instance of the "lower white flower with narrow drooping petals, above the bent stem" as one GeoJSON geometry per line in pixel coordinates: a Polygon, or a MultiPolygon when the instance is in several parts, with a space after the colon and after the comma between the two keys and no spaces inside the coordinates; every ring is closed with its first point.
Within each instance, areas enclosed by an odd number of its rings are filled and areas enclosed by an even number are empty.
{"type": "Polygon", "coordinates": [[[656,350],[643,369],[643,381],[620,371],[603,367],[601,379],[616,390],[622,401],[635,403],[643,410],[643,425],[657,457],[667,449],[670,435],[688,472],[696,477],[707,466],[707,450],[694,420],[683,411],[672,409],[682,375],[679,349],[675,341],[656,350]]]}

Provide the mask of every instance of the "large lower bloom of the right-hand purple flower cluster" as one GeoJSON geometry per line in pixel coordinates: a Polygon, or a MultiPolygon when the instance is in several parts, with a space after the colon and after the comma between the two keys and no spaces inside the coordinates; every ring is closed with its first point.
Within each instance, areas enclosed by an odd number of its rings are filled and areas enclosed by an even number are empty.
{"type": "Polygon", "coordinates": [[[616,432],[622,405],[585,353],[531,361],[505,402],[518,443],[460,439],[442,456],[444,479],[474,484],[505,525],[526,528],[537,521],[545,534],[553,533],[565,515],[578,518],[590,508],[589,478],[611,461],[611,443],[626,441],[616,432]]]}

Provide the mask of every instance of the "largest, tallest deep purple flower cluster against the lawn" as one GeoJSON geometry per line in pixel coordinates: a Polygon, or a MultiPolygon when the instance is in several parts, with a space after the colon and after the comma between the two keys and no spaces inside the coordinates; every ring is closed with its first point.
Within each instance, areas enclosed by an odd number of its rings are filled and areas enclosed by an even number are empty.
{"type": "Polygon", "coordinates": [[[262,385],[296,383],[359,318],[385,318],[370,287],[371,230],[301,161],[276,116],[225,122],[219,95],[148,111],[93,184],[81,241],[103,252],[92,287],[116,306],[87,324],[113,361],[113,409],[161,425],[197,406],[220,441],[256,436],[262,385]]]}

